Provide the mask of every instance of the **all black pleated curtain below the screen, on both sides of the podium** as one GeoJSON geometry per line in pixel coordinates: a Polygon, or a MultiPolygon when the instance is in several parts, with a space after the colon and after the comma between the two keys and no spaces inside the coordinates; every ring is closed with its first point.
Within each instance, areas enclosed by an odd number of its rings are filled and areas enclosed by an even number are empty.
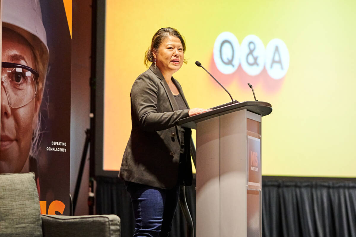
{"type": "MultiPolygon", "coordinates": [[[[355,180],[278,178],[262,177],[263,237],[356,237],[355,180]]],[[[121,236],[132,236],[134,218],[124,182],[109,177],[97,177],[96,181],[96,213],[116,214],[121,218],[121,236]]],[[[193,182],[186,187],[186,196],[195,227],[195,179],[193,182]]],[[[169,236],[187,236],[179,205],[169,236]]]]}

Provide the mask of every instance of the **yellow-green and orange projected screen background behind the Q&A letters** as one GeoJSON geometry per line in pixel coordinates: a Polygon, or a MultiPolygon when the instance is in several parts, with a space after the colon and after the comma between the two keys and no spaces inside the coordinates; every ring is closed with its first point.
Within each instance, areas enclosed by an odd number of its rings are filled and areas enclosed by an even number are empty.
{"type": "MultiPolygon", "coordinates": [[[[336,0],[106,0],[104,169],[120,168],[131,131],[131,86],[146,70],[143,57],[153,34],[169,26],[186,39],[188,64],[173,76],[191,108],[210,108],[230,100],[195,65],[196,60],[234,99],[253,100],[247,86],[250,82],[257,99],[272,104],[272,114],[262,118],[263,175],[356,177],[355,9],[355,1],[336,0]],[[214,44],[223,32],[230,32],[238,41],[235,46],[240,48],[235,48],[234,57],[239,52],[242,55],[237,65],[233,63],[235,68],[231,66],[231,74],[221,72],[214,59],[214,44]],[[244,41],[255,36],[255,45],[244,41]],[[278,52],[275,45],[267,52],[272,39],[282,41],[287,54],[281,44],[278,52]],[[246,69],[246,61],[243,68],[246,52],[252,52],[248,63],[259,64],[260,72],[246,69]],[[259,60],[265,58],[265,66],[254,61],[256,55],[259,60]],[[278,66],[278,61],[283,63],[285,75],[273,79],[266,68],[271,63],[278,66]]],[[[216,49],[222,52],[220,60],[229,62],[231,48],[225,43],[216,49]]]]}

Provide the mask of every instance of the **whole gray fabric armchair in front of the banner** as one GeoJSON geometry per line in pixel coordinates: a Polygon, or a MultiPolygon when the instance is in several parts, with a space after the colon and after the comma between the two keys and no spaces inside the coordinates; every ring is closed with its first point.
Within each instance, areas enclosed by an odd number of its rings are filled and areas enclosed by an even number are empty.
{"type": "Polygon", "coordinates": [[[120,237],[116,215],[41,215],[35,174],[0,174],[0,237],[120,237]]]}

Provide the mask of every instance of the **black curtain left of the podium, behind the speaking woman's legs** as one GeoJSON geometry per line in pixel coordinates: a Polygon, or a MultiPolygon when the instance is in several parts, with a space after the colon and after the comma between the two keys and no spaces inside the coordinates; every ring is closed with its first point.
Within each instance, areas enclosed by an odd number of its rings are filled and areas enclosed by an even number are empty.
{"type": "MultiPolygon", "coordinates": [[[[195,232],[195,178],[193,185],[185,187],[188,208],[192,215],[195,232]]],[[[130,237],[135,228],[131,199],[119,178],[96,177],[96,214],[115,214],[121,219],[121,236],[130,237]]],[[[178,204],[169,237],[187,236],[187,222],[178,204]]]]}

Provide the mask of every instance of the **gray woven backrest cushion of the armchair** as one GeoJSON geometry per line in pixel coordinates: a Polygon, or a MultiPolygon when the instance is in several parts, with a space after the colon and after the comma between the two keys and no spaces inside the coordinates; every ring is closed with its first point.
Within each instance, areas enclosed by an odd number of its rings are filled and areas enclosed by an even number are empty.
{"type": "Polygon", "coordinates": [[[0,174],[0,236],[42,236],[35,173],[0,174]]]}

